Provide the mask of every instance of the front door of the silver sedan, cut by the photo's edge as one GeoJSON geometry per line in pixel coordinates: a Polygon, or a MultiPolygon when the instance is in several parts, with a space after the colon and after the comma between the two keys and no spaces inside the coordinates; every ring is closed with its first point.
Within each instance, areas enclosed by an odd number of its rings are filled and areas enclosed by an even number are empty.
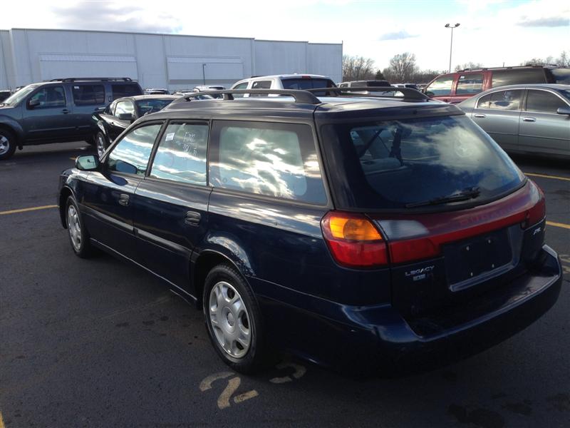
{"type": "Polygon", "coordinates": [[[528,89],[520,117],[519,146],[522,151],[566,155],[570,153],[570,116],[557,114],[569,107],[560,96],[543,89],[528,89]]]}

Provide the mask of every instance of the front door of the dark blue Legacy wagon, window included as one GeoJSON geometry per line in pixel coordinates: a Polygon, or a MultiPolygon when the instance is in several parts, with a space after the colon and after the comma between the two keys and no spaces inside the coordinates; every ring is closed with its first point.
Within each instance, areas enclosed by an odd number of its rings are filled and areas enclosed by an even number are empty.
{"type": "Polygon", "coordinates": [[[121,255],[138,261],[133,235],[133,195],[144,178],[162,122],[142,123],[126,133],[88,174],[79,202],[90,235],[121,255]]]}

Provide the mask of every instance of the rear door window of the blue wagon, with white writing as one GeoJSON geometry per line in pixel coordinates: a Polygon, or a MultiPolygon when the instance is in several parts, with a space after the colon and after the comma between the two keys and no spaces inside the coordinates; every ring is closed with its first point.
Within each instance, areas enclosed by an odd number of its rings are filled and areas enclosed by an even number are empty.
{"type": "Polygon", "coordinates": [[[150,176],[205,185],[207,143],[207,123],[170,123],[160,140],[150,176]]]}

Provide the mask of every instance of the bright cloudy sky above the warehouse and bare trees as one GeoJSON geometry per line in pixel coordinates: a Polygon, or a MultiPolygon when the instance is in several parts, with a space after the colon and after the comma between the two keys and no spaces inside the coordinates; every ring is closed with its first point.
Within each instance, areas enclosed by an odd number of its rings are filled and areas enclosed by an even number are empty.
{"type": "Polygon", "coordinates": [[[415,54],[436,70],[472,61],[519,65],[570,54],[568,0],[2,1],[1,29],[93,29],[343,42],[384,68],[415,54]]]}

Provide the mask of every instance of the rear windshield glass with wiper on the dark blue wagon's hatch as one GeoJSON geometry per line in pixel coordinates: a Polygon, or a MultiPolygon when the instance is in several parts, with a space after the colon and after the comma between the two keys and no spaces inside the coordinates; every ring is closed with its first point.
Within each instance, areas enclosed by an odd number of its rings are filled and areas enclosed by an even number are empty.
{"type": "Polygon", "coordinates": [[[524,180],[497,143],[462,115],[326,125],[323,136],[333,164],[342,165],[335,169],[347,174],[333,180],[345,195],[349,188],[351,206],[341,208],[412,209],[462,194],[470,197],[461,203],[484,203],[524,180]]]}

